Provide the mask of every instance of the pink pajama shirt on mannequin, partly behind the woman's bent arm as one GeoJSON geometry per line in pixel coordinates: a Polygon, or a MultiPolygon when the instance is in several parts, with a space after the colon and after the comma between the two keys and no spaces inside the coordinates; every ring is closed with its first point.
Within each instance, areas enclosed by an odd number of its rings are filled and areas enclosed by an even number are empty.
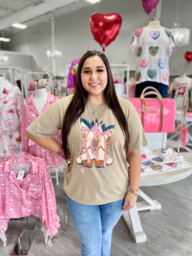
{"type": "MultiPolygon", "coordinates": [[[[26,127],[29,126],[39,115],[38,109],[35,106],[34,102],[35,93],[32,93],[28,99],[24,101],[24,105],[22,106],[22,122],[21,122],[21,141],[22,141],[22,149],[33,156],[38,156],[44,159],[49,168],[55,168],[61,166],[64,161],[63,157],[46,150],[39,145],[36,145],[35,142],[29,140],[27,137],[26,127]]],[[[58,100],[58,97],[55,97],[50,92],[47,91],[47,102],[42,112],[44,112],[52,103],[58,100]]],[[[54,139],[61,143],[61,131],[58,131],[54,134],[54,139]]]]}

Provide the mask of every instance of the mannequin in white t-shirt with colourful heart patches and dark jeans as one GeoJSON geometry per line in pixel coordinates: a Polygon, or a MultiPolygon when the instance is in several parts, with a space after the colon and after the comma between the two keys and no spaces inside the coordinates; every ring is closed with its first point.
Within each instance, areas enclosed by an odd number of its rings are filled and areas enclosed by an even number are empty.
{"type": "MultiPolygon", "coordinates": [[[[148,26],[134,31],[131,51],[137,55],[136,97],[147,86],[156,88],[163,98],[168,95],[168,61],[174,47],[172,33],[161,26],[159,19],[151,19],[148,26]]],[[[148,97],[156,97],[149,95],[148,97]]]]}

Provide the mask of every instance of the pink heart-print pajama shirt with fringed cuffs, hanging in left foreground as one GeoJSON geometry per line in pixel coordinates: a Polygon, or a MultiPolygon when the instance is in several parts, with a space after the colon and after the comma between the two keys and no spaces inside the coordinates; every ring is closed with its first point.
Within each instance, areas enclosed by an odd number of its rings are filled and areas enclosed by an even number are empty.
{"type": "Polygon", "coordinates": [[[29,215],[42,221],[45,243],[60,227],[56,198],[47,164],[39,157],[20,152],[0,161],[0,238],[6,246],[5,231],[11,218],[29,215]],[[20,170],[24,177],[18,180],[20,170]]]}

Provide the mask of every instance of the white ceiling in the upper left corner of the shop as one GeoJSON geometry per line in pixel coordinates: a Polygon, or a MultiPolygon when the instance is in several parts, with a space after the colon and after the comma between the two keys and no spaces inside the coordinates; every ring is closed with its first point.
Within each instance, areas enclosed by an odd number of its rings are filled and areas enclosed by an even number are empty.
{"type": "Polygon", "coordinates": [[[0,0],[0,33],[4,36],[18,31],[11,27],[15,22],[30,27],[50,22],[52,11],[59,17],[88,5],[86,0],[0,0]]]}

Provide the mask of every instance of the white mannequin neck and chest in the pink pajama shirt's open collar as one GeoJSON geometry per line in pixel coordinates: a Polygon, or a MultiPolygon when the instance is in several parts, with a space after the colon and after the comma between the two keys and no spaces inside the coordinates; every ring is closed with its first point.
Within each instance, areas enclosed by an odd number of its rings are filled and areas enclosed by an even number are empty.
{"type": "Polygon", "coordinates": [[[36,87],[33,100],[38,112],[42,113],[47,102],[47,89],[45,87],[36,87]]]}

